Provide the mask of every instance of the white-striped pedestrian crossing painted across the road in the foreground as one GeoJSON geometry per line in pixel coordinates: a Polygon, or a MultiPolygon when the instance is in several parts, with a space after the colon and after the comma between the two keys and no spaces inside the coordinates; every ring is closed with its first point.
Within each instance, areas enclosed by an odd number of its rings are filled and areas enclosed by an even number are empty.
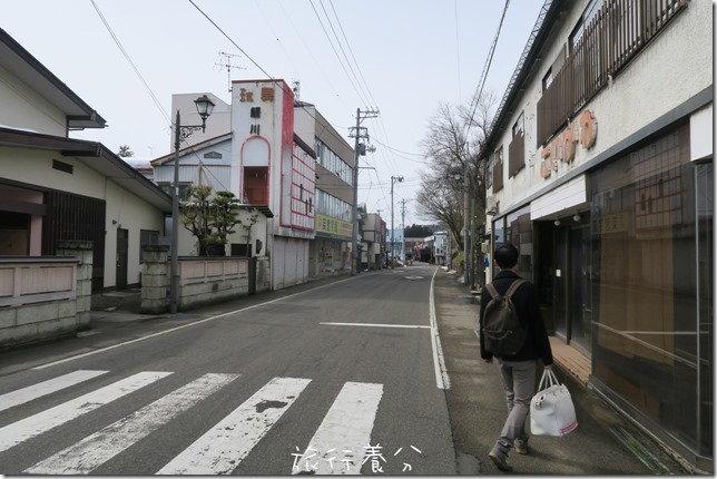
{"type": "MultiPolygon", "coordinates": [[[[32,441],[40,440],[47,433],[65,433],[63,428],[69,429],[71,421],[92,411],[101,412],[101,408],[111,408],[119,399],[151,384],[161,384],[163,380],[173,375],[174,372],[143,371],[118,378],[107,384],[107,380],[112,378],[110,371],[78,370],[0,394],[0,424],[6,424],[0,427],[0,475],[92,473],[111,459],[121,457],[122,453],[129,454],[128,449],[141,440],[153,434],[161,434],[163,427],[186,419],[186,414],[196,413],[199,404],[212,400],[212,397],[224,388],[242,381],[240,374],[226,373],[206,373],[186,380],[180,378],[175,382],[175,385],[178,385],[176,389],[159,399],[156,399],[155,393],[151,395],[155,399],[153,402],[149,402],[151,399],[147,399],[145,402],[149,403],[141,403],[134,411],[125,411],[129,413],[121,419],[100,423],[95,432],[77,442],[70,446],[62,443],[56,450],[42,454],[47,457],[33,457],[32,461],[39,462],[32,466],[23,465],[21,470],[6,470],[7,465],[18,461],[18,458],[12,456],[13,448],[32,444],[32,441]],[[91,390],[94,383],[97,385],[91,390]],[[60,398],[72,397],[75,388],[78,388],[77,393],[85,393],[61,402],[60,398]],[[88,390],[91,391],[86,392],[88,390]],[[17,416],[21,417],[23,404],[37,404],[33,401],[40,399],[42,403],[47,402],[50,405],[40,412],[14,420],[17,416]],[[7,423],[9,418],[14,422],[7,423]]],[[[204,433],[197,431],[198,439],[195,439],[196,436],[187,438],[187,444],[183,446],[185,449],[158,470],[144,473],[232,473],[291,410],[311,383],[312,380],[305,378],[273,378],[215,426],[204,433]]],[[[344,383],[321,423],[307,424],[307,432],[316,428],[308,442],[296,446],[298,453],[287,450],[285,458],[279,458],[286,463],[284,471],[279,473],[360,473],[367,447],[371,444],[382,395],[382,384],[344,383]],[[303,449],[299,446],[303,446],[303,449]]],[[[226,394],[224,397],[226,398],[226,394]]],[[[124,401],[125,404],[129,402],[124,401]]],[[[37,410],[31,407],[26,409],[37,410]]],[[[94,416],[91,423],[96,424],[100,416],[94,416]]],[[[112,416],[112,419],[117,417],[119,416],[112,416]]],[[[136,454],[137,450],[132,449],[131,453],[136,454]]],[[[117,473],[121,475],[122,471],[117,473]]]]}

